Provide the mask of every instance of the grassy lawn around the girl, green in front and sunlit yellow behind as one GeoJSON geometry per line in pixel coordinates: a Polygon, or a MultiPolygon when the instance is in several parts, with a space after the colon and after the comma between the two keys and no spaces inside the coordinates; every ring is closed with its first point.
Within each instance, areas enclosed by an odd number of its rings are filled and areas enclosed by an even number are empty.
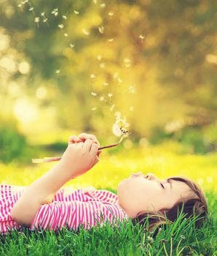
{"type": "MultiPolygon", "coordinates": [[[[171,145],[146,148],[138,151],[131,148],[111,155],[104,152],[100,162],[91,171],[69,184],[74,187],[94,186],[116,192],[122,178],[135,170],[151,171],[160,178],[170,175],[188,176],[205,190],[208,198],[208,222],[200,229],[194,222],[178,220],[167,225],[154,236],[143,232],[129,222],[119,227],[104,225],[79,232],[63,228],[54,233],[49,230],[18,233],[12,230],[0,236],[0,255],[217,255],[217,204],[216,162],[217,154],[207,156],[181,154],[171,145]]],[[[4,184],[28,185],[49,170],[54,163],[17,167],[1,165],[0,178],[4,184]]],[[[65,187],[65,186],[64,186],[65,187]]]]}

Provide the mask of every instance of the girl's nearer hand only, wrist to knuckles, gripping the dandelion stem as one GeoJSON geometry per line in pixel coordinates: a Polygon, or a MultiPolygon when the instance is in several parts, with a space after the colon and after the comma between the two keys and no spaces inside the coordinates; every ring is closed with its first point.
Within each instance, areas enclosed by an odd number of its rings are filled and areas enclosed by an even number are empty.
{"type": "Polygon", "coordinates": [[[76,178],[90,170],[98,159],[98,143],[93,143],[89,138],[84,142],[69,143],[60,162],[64,169],[70,172],[71,178],[76,178]]]}

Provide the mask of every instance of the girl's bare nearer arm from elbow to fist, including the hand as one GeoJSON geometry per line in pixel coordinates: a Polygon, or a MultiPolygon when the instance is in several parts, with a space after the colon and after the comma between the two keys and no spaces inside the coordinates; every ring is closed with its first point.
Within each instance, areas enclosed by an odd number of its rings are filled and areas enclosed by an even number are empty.
{"type": "Polygon", "coordinates": [[[23,192],[12,208],[12,219],[29,227],[39,206],[50,203],[60,187],[86,173],[98,161],[98,145],[92,140],[68,145],[62,159],[23,192]]]}

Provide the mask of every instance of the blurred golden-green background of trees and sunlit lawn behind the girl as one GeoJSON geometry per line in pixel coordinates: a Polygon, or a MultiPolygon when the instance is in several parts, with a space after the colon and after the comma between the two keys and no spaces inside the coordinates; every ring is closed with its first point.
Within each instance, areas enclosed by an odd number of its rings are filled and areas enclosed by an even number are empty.
{"type": "MultiPolygon", "coordinates": [[[[74,187],[138,170],[216,190],[216,1],[0,0],[0,178],[28,185],[68,137],[119,138],[74,187]]],[[[68,184],[67,184],[68,185],[68,184]]]]}

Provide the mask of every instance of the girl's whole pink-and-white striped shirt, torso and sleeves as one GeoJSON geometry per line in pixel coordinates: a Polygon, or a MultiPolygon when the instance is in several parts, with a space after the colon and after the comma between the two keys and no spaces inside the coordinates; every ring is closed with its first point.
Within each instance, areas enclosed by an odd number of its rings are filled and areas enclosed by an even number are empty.
{"type": "MultiPolygon", "coordinates": [[[[0,233],[7,233],[12,229],[22,230],[23,226],[12,219],[11,210],[26,188],[0,185],[0,233]]],[[[117,195],[105,189],[63,187],[55,194],[52,203],[39,206],[29,229],[42,227],[57,230],[58,227],[69,227],[77,230],[79,225],[83,225],[87,230],[98,222],[103,226],[106,220],[111,224],[128,220],[117,199],[117,195]]]]}

